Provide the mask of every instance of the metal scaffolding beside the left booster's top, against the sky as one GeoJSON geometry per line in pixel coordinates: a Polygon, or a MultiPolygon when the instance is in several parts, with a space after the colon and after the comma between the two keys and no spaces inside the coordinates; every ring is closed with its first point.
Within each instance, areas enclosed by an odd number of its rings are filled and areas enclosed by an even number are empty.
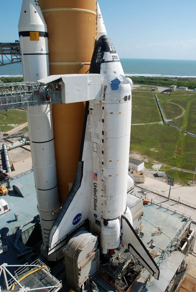
{"type": "Polygon", "coordinates": [[[0,66],[13,63],[21,63],[19,41],[15,41],[15,43],[0,43],[0,66]]]}

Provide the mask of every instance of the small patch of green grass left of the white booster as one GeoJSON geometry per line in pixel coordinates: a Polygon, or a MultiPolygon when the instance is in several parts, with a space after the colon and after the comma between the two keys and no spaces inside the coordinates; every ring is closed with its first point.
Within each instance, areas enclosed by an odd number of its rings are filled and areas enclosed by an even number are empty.
{"type": "Polygon", "coordinates": [[[0,131],[7,132],[14,128],[13,124],[21,125],[27,122],[26,112],[11,109],[0,111],[0,131]]]}

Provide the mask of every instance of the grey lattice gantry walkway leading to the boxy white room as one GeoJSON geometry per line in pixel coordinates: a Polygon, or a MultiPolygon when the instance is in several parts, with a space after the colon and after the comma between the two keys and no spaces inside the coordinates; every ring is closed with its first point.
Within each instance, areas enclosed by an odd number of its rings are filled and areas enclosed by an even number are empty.
{"type": "Polygon", "coordinates": [[[47,88],[39,82],[3,83],[0,81],[0,110],[52,104],[62,101],[58,87],[47,88]]]}

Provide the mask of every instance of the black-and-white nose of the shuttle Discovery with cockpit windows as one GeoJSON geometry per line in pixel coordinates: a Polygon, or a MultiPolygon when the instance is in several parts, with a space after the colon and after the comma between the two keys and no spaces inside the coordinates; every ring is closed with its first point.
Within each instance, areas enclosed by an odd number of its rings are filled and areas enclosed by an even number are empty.
{"type": "Polygon", "coordinates": [[[89,73],[100,74],[101,63],[120,62],[113,43],[106,35],[101,36],[93,51],[89,73]]]}

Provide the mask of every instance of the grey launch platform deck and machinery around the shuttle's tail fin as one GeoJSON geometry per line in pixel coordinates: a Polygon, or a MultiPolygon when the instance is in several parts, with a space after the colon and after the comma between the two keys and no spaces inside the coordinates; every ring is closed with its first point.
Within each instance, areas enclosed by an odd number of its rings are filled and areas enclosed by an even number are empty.
{"type": "Polygon", "coordinates": [[[95,277],[97,291],[107,291],[110,285],[112,286],[110,291],[113,292],[140,292],[145,287],[148,292],[164,292],[175,279],[175,274],[186,257],[186,250],[183,253],[181,247],[192,220],[185,214],[154,203],[144,205],[143,213],[139,236],[159,266],[159,280],[154,279],[135,259],[131,258],[131,253],[126,248],[121,248],[95,277]],[[118,261],[122,265],[121,273],[115,269],[115,263],[118,261]],[[126,262],[128,261],[129,268],[127,269],[126,262]],[[114,283],[115,277],[116,283],[114,283]],[[130,285],[126,285],[130,282],[130,285]]]}

